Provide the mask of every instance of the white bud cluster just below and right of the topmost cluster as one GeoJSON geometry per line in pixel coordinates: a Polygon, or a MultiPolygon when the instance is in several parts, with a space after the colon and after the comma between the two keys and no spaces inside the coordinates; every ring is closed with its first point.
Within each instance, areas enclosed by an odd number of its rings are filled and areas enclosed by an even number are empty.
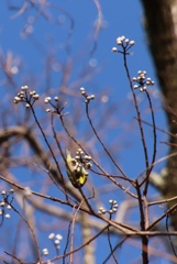
{"type": "Polygon", "coordinates": [[[153,86],[154,81],[148,77],[146,78],[146,72],[145,70],[139,70],[137,72],[137,77],[133,77],[132,81],[136,82],[137,85],[134,85],[134,89],[140,89],[140,91],[145,91],[146,86],[153,86]]]}

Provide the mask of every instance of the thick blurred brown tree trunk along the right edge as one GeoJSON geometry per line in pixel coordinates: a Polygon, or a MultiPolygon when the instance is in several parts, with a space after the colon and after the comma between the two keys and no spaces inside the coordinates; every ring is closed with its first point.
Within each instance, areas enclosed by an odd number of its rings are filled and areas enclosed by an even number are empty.
{"type": "MultiPolygon", "coordinates": [[[[156,67],[159,87],[167,114],[169,138],[173,146],[169,154],[177,152],[177,0],[142,0],[150,50],[156,67]],[[175,146],[175,145],[176,146],[175,146]]],[[[159,186],[165,197],[177,195],[177,157],[167,162],[164,185],[159,186]]],[[[177,213],[172,221],[177,230],[177,213]]]]}

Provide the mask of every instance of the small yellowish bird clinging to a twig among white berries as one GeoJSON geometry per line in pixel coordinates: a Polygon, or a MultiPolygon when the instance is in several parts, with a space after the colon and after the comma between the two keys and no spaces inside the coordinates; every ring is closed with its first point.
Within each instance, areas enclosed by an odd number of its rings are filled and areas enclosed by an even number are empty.
{"type": "Polygon", "coordinates": [[[71,157],[68,150],[66,150],[66,172],[75,188],[81,188],[86,184],[88,172],[79,161],[71,157]]]}

